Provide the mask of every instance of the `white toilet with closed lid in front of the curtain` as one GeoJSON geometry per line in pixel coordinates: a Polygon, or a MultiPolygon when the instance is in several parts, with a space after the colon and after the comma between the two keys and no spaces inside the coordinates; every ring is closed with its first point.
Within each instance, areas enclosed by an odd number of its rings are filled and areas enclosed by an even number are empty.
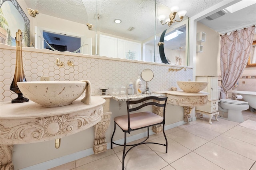
{"type": "MultiPolygon", "coordinates": [[[[220,87],[218,87],[218,96],[220,96],[220,87]]],[[[248,102],[231,100],[231,99],[220,99],[218,101],[218,110],[222,112],[228,112],[229,121],[242,123],[244,121],[242,111],[249,109],[248,102]]]]}

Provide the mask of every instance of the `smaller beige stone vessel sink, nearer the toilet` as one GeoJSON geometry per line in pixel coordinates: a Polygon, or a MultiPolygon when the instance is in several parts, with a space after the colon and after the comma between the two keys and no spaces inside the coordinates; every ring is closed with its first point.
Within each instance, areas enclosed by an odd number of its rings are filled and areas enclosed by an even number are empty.
{"type": "Polygon", "coordinates": [[[198,93],[205,89],[208,82],[204,81],[177,81],[177,85],[186,93],[198,93]]]}

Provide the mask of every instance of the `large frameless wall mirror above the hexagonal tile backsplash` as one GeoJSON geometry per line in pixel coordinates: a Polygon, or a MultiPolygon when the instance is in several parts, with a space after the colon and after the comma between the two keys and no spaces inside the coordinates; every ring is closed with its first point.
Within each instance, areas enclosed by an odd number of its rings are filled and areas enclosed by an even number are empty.
{"type": "Polygon", "coordinates": [[[70,52],[162,63],[157,44],[167,29],[166,36],[174,32],[178,36],[165,41],[166,58],[170,64],[179,65],[176,62],[179,57],[180,65],[188,65],[188,17],[170,27],[161,25],[158,16],[168,16],[170,8],[154,0],[25,2],[28,8],[39,11],[32,18],[36,48],[60,46],[64,51],[66,48],[70,52]],[[116,24],[116,19],[121,23],[116,24]],[[87,23],[92,25],[92,30],[87,23]]]}

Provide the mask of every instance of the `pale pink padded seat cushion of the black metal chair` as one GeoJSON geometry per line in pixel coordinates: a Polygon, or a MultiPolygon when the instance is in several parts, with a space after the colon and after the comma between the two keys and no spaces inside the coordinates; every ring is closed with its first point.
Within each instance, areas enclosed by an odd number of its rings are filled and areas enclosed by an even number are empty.
{"type": "MultiPolygon", "coordinates": [[[[122,128],[122,130],[128,130],[128,115],[122,115],[114,118],[116,124],[122,128]]],[[[141,127],[147,127],[157,123],[161,123],[163,117],[156,115],[152,112],[139,112],[130,114],[130,128],[136,129],[141,127]]]]}

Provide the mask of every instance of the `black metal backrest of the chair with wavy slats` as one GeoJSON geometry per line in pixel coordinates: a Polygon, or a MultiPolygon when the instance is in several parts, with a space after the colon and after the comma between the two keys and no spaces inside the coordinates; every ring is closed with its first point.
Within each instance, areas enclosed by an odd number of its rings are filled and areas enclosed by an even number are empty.
{"type": "Polygon", "coordinates": [[[165,120],[165,107],[166,107],[166,101],[167,97],[156,97],[156,96],[149,96],[149,97],[144,97],[143,99],[136,100],[136,101],[126,101],[127,105],[127,113],[128,113],[128,129],[130,132],[130,112],[137,111],[139,109],[142,109],[143,107],[149,106],[149,105],[154,105],[157,107],[163,107],[163,118],[165,120]],[[152,101],[149,101],[152,100],[152,101]],[[146,102],[149,101],[149,102],[146,102]],[[164,101],[164,102],[161,102],[164,101]],[[142,103],[141,105],[138,105],[136,107],[130,108],[129,105],[135,105],[142,103]]]}

